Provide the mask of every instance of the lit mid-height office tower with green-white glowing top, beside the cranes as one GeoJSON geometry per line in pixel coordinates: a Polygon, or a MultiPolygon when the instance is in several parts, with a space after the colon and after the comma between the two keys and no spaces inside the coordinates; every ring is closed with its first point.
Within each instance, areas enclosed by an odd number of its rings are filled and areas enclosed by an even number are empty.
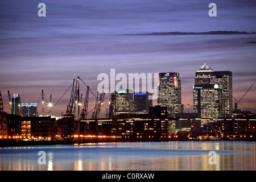
{"type": "Polygon", "coordinates": [[[133,91],[128,89],[119,89],[112,93],[112,102],[110,104],[110,115],[134,114],[135,104],[133,91]]]}

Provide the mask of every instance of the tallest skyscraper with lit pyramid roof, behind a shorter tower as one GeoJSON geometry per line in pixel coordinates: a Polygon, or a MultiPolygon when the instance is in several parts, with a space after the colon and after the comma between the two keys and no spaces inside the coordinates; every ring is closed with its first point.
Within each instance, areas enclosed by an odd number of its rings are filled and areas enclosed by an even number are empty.
{"type": "MultiPolygon", "coordinates": [[[[230,71],[213,71],[206,63],[196,71],[195,87],[196,85],[221,85],[223,94],[222,110],[224,117],[232,115],[233,96],[232,96],[232,72],[230,71]]],[[[194,104],[197,102],[193,101],[194,104]]],[[[199,105],[197,105],[199,107],[199,105]]],[[[197,110],[194,107],[194,113],[197,110]]],[[[200,117],[200,115],[199,115],[200,117]]]]}

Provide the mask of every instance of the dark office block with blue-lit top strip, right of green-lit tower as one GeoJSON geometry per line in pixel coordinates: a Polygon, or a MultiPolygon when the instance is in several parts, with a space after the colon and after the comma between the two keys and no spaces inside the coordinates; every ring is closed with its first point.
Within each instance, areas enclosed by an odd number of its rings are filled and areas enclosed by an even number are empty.
{"type": "Polygon", "coordinates": [[[149,100],[148,96],[152,96],[152,93],[134,93],[136,114],[148,114],[149,108],[152,106],[152,100],[149,100]]]}

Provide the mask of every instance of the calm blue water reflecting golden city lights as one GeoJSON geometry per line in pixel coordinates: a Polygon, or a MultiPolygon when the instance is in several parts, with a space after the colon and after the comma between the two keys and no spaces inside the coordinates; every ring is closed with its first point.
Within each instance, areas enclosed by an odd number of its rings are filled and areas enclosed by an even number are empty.
{"type": "Polygon", "coordinates": [[[256,142],[130,142],[0,147],[0,170],[256,170],[256,142]],[[217,164],[209,164],[209,151],[217,164]],[[39,151],[46,164],[39,164],[39,151]]]}

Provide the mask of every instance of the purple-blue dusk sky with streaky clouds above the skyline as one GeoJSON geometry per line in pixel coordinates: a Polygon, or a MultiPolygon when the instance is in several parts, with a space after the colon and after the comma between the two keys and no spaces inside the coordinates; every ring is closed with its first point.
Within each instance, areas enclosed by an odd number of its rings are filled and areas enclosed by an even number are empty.
{"type": "MultiPolygon", "coordinates": [[[[22,103],[38,102],[42,114],[43,88],[46,100],[52,94],[53,115],[65,114],[71,90],[65,92],[74,78],[82,78],[96,94],[97,76],[115,69],[126,75],[179,72],[181,103],[192,112],[195,72],[204,63],[214,71],[232,71],[233,97],[239,100],[256,80],[256,34],[251,34],[256,32],[255,8],[253,0],[0,1],[4,110],[10,113],[9,89],[20,94],[22,103]],[[41,2],[46,4],[45,17],[38,16],[41,2]],[[212,2],[217,5],[215,17],[208,15],[212,2]],[[201,34],[211,31],[217,34],[201,34]]],[[[85,94],[81,85],[83,89],[85,94]]],[[[255,93],[256,84],[241,101],[253,112],[255,93]]],[[[91,93],[89,102],[90,111],[95,102],[91,93]]]]}

